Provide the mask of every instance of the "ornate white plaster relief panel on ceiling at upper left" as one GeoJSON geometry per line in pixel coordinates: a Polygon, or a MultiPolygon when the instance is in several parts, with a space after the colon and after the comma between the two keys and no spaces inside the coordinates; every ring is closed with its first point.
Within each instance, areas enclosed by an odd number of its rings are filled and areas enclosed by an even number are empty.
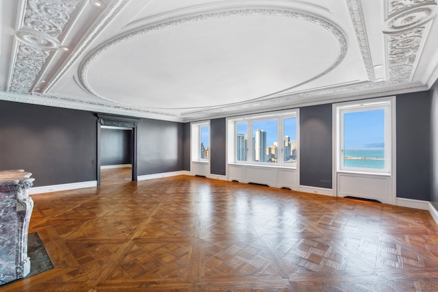
{"type": "Polygon", "coordinates": [[[9,92],[29,94],[80,0],[28,0],[21,29],[9,92]]]}

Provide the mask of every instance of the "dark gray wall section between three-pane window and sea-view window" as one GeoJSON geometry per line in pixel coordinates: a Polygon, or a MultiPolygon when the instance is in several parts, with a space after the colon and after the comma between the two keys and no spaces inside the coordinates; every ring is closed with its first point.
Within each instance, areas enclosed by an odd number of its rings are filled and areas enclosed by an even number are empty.
{"type": "Polygon", "coordinates": [[[332,187],[332,105],[300,108],[300,185],[332,187]]]}

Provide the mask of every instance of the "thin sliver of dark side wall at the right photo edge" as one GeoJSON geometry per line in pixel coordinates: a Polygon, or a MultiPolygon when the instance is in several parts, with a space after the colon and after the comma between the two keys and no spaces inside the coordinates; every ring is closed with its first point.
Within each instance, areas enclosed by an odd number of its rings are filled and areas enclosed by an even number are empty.
{"type": "Polygon", "coordinates": [[[438,210],[438,81],[435,82],[432,88],[430,88],[430,98],[432,99],[432,106],[430,111],[431,117],[431,193],[430,201],[435,209],[438,210]]]}

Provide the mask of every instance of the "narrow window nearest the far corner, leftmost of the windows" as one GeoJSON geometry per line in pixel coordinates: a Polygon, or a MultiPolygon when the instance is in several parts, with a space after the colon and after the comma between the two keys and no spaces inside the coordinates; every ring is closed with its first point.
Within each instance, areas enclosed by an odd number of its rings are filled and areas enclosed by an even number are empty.
{"type": "Polygon", "coordinates": [[[210,124],[192,124],[192,161],[208,162],[210,157],[210,124]]]}

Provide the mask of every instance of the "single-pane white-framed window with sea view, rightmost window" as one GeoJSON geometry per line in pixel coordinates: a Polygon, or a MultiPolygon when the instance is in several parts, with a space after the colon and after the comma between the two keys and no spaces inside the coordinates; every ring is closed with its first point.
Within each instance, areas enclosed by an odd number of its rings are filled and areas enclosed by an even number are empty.
{"type": "Polygon", "coordinates": [[[390,102],[338,107],[338,170],[390,172],[390,102]]]}

